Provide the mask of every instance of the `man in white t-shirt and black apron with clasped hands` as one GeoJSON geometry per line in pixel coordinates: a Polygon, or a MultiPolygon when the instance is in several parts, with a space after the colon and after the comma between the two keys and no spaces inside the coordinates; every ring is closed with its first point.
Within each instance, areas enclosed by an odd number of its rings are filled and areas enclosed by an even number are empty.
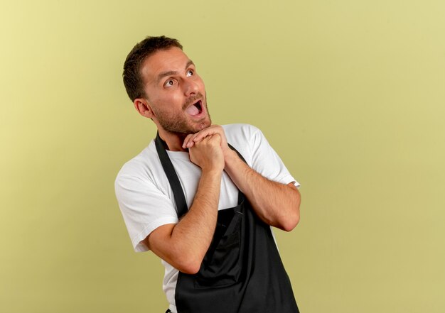
{"type": "Polygon", "coordinates": [[[116,194],[134,249],[166,268],[169,310],[299,312],[270,228],[298,224],[299,185],[261,131],[212,125],[178,40],[138,43],[123,77],[158,136],[120,170],[116,194]]]}

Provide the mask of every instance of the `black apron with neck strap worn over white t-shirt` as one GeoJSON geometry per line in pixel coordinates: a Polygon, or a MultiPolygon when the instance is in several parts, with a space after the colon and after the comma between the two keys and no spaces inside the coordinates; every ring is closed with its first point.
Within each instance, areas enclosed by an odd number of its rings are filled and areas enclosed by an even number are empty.
{"type": "MultiPolygon", "coordinates": [[[[155,143],[181,218],[188,211],[186,197],[159,134],[155,143]]],[[[178,313],[299,313],[270,226],[242,192],[236,207],[218,211],[199,272],[178,273],[175,301],[178,313]]]]}

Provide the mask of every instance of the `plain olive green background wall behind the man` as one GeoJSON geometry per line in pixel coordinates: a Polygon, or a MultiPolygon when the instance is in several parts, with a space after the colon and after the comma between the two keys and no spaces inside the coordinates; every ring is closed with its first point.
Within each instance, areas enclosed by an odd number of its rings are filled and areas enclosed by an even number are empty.
{"type": "Polygon", "coordinates": [[[301,312],[445,311],[444,1],[2,1],[0,303],[164,312],[114,198],[155,135],[122,64],[181,40],[215,123],[262,129],[299,182],[277,231],[301,312]]]}

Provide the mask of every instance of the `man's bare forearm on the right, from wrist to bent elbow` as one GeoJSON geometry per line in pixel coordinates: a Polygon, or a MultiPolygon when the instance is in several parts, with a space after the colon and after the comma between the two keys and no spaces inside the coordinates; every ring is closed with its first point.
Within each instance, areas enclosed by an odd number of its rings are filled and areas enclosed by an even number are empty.
{"type": "Polygon", "coordinates": [[[291,231],[298,224],[300,194],[294,185],[259,175],[233,150],[225,153],[225,171],[265,223],[285,231],[291,231]]]}

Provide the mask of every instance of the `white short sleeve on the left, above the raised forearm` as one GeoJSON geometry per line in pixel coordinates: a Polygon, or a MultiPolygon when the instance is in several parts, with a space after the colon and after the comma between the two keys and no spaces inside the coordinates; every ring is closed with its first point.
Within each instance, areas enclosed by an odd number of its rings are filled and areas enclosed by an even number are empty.
{"type": "Polygon", "coordinates": [[[173,202],[148,178],[119,173],[114,189],[134,251],[149,250],[141,241],[151,231],[165,224],[178,223],[173,202]]]}

